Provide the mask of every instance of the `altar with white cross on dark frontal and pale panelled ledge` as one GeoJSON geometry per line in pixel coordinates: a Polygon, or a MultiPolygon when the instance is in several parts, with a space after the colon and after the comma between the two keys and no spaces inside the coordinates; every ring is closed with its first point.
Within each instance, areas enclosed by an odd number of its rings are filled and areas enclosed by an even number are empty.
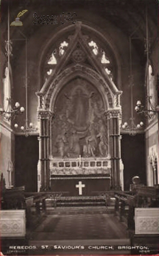
{"type": "Polygon", "coordinates": [[[98,196],[110,190],[111,160],[50,157],[50,189],[61,196],[98,196]]]}

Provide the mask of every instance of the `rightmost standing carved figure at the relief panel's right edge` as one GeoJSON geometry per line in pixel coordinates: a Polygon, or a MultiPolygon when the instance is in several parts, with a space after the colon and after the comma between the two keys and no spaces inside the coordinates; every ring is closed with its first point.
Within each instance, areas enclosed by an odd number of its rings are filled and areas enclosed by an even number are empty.
{"type": "Polygon", "coordinates": [[[98,144],[99,153],[101,157],[107,156],[107,139],[106,139],[106,131],[103,125],[102,120],[99,120],[99,133],[97,134],[97,138],[100,139],[98,144]]]}

